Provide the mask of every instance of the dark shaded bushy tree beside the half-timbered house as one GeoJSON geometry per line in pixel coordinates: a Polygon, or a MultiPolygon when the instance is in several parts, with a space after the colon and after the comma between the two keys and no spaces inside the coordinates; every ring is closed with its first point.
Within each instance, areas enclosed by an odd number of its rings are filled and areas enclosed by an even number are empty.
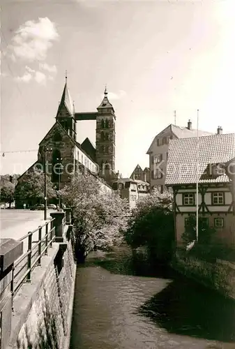
{"type": "Polygon", "coordinates": [[[139,200],[128,221],[125,238],[133,249],[146,247],[151,261],[168,260],[174,241],[172,194],[154,190],[139,200]]]}

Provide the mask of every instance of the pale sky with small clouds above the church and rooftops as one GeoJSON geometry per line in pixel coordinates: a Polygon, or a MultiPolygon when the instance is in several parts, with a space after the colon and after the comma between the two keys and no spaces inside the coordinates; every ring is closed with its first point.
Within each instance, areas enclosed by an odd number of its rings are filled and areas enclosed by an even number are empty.
{"type": "MultiPolygon", "coordinates": [[[[123,177],[149,165],[174,110],[179,126],[199,110],[199,129],[235,132],[234,38],[233,0],[1,0],[1,174],[37,160],[66,70],[76,112],[95,112],[107,84],[123,177]]],[[[86,137],[95,121],[77,122],[86,137]]]]}

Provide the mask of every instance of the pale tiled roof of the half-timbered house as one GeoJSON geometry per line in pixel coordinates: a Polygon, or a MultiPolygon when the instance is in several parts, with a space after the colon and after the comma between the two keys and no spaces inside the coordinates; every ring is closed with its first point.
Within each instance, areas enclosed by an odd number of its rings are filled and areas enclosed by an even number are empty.
{"type": "MultiPolygon", "coordinates": [[[[204,177],[209,164],[226,163],[235,157],[235,134],[199,137],[199,183],[229,181],[226,174],[204,177]]],[[[197,182],[197,138],[170,140],[165,184],[195,184],[197,182]]]]}

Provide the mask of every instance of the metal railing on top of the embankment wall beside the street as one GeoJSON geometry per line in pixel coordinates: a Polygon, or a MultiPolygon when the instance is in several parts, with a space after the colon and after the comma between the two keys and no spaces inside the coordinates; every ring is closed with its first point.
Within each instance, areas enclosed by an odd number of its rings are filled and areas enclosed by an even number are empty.
{"type": "Polygon", "coordinates": [[[13,276],[10,290],[15,293],[20,289],[24,282],[31,282],[31,272],[41,264],[43,255],[47,255],[48,248],[52,247],[55,239],[55,227],[53,227],[54,219],[40,225],[37,229],[24,235],[20,242],[24,244],[23,255],[18,258],[13,267],[13,276]],[[43,229],[45,228],[45,229],[43,229]],[[43,230],[45,234],[43,233],[43,230]],[[38,232],[38,235],[36,234],[38,232]],[[33,240],[37,235],[37,238],[33,240]]]}

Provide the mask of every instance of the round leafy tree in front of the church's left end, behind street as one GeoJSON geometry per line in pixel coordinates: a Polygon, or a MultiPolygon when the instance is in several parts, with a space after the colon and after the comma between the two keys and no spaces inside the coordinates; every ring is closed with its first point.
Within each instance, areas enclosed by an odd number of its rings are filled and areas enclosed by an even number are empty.
{"type": "MultiPolygon", "coordinates": [[[[44,198],[44,173],[39,171],[28,172],[15,187],[15,198],[30,202],[31,205],[40,203],[44,198]]],[[[47,198],[56,197],[56,191],[47,176],[47,198]]]]}

